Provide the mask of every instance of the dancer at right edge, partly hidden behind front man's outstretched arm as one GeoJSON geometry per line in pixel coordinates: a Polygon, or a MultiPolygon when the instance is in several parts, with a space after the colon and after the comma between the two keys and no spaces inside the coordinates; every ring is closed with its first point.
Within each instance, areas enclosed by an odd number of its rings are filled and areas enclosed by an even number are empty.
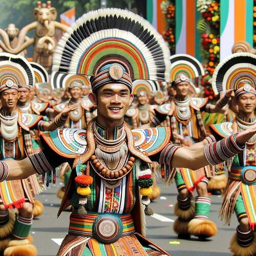
{"type": "MultiPolygon", "coordinates": [[[[238,114],[232,122],[210,125],[221,138],[248,130],[256,124],[256,57],[250,53],[235,53],[224,59],[212,76],[215,93],[234,90],[238,114]],[[241,69],[243,67],[243,69],[241,69]]],[[[230,223],[233,211],[239,225],[230,241],[234,255],[252,256],[256,252],[256,136],[246,142],[243,152],[229,162],[228,184],[221,206],[221,217],[230,223]]]]}

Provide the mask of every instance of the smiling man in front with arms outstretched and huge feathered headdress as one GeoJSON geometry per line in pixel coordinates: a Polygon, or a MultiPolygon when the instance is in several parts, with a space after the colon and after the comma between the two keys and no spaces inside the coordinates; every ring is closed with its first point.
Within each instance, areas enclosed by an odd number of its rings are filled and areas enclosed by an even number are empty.
{"type": "Polygon", "coordinates": [[[153,181],[148,163],[155,159],[167,165],[166,178],[172,178],[172,167],[198,169],[207,165],[217,157],[213,149],[220,143],[224,142],[220,161],[241,152],[256,129],[221,142],[208,143],[211,139],[207,138],[193,148],[168,143],[168,127],[132,132],[123,123],[133,100],[132,79],[168,79],[169,62],[165,59],[169,50],[164,40],[143,18],[120,9],[89,12],[72,28],[57,47],[54,70],[92,75],[93,93],[89,98],[97,104],[97,118],[88,123],[87,131],[60,129],[45,133],[40,153],[21,161],[1,162],[0,180],[50,173],[68,160],[72,174],[59,214],[67,205],[72,204],[74,209],[69,234],[58,255],[167,254],[157,245],[151,247],[153,243],[142,236],[140,202],[145,205],[145,214],[152,214],[148,195],[153,181]],[[73,39],[75,35],[79,35],[79,44],[73,39]],[[70,44],[73,48],[68,47],[70,44]],[[84,54],[75,60],[74,54],[81,49],[84,54]]]}

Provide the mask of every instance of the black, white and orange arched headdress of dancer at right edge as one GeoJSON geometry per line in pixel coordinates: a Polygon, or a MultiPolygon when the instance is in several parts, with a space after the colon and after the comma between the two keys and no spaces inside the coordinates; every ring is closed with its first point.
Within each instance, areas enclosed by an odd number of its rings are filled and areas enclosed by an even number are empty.
{"type": "Polygon", "coordinates": [[[255,94],[256,55],[246,52],[231,54],[216,67],[211,84],[215,94],[230,89],[236,91],[236,97],[242,92],[255,94]]]}

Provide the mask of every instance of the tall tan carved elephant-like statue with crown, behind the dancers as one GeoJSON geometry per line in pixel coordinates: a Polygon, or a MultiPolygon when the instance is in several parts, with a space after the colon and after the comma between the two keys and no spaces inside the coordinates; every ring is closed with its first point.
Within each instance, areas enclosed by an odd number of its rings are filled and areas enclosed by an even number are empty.
{"type": "MultiPolygon", "coordinates": [[[[36,29],[36,36],[35,38],[32,38],[34,42],[33,61],[39,63],[49,71],[52,66],[52,53],[56,46],[55,29],[60,29],[66,32],[68,27],[56,22],[57,10],[54,7],[51,7],[51,1],[47,1],[47,4],[37,2],[37,7],[33,10],[33,17],[36,21],[20,30],[17,46],[14,49],[4,50],[9,53],[18,54],[25,49],[25,46],[28,47],[28,44],[31,44],[31,41],[24,44],[26,34],[30,30],[36,29]]],[[[2,47],[1,41],[0,47],[2,47]]]]}

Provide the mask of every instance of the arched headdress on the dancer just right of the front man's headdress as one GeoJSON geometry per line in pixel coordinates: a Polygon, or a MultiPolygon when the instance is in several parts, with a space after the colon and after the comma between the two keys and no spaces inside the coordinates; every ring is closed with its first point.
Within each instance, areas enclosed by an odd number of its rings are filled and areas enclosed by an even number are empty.
{"type": "Polygon", "coordinates": [[[201,63],[195,57],[188,54],[175,54],[170,57],[170,61],[172,62],[170,80],[175,82],[175,84],[187,81],[195,92],[199,93],[199,88],[196,88],[191,79],[204,75],[204,68],[201,63]]]}

